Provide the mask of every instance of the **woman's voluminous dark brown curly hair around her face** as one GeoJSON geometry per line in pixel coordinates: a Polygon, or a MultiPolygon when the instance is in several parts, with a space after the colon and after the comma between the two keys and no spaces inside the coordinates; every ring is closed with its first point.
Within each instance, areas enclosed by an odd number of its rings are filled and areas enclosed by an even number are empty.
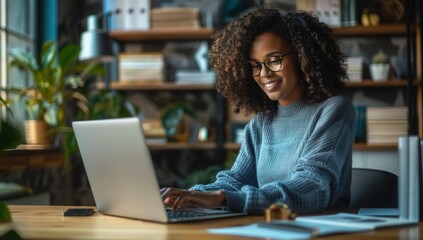
{"type": "Polygon", "coordinates": [[[330,28],[310,13],[282,15],[277,9],[261,8],[217,31],[209,52],[218,79],[216,88],[235,104],[236,113],[241,109],[245,114],[276,112],[277,102],[262,91],[246,64],[256,37],[265,32],[275,33],[295,50],[307,103],[342,93],[348,80],[346,64],[330,28]]]}

